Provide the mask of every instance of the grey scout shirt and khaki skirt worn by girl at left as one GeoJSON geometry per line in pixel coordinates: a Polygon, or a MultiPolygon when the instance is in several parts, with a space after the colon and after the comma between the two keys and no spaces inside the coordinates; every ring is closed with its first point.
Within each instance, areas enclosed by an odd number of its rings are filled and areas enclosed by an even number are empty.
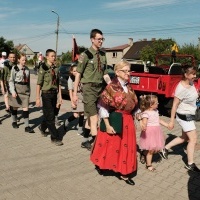
{"type": "Polygon", "coordinates": [[[16,65],[12,68],[10,79],[9,79],[9,90],[11,94],[17,94],[16,98],[9,95],[9,105],[12,107],[29,107],[30,99],[30,70],[28,67],[21,68],[16,65]],[[26,74],[26,79],[24,79],[24,72],[26,74]]]}

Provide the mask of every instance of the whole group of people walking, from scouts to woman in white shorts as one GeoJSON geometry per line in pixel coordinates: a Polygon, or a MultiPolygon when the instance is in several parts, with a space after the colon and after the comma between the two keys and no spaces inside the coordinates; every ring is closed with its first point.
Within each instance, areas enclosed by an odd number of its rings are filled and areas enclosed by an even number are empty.
{"type": "MultiPolygon", "coordinates": [[[[161,120],[158,113],[158,97],[143,95],[138,102],[134,90],[129,85],[130,64],[121,60],[115,64],[115,77],[110,80],[107,71],[106,56],[102,47],[104,37],[99,29],[90,32],[91,47],[83,52],[78,63],[71,66],[68,89],[73,114],[65,120],[64,129],[79,118],[78,133],[83,132],[82,148],[91,150],[90,160],[100,175],[112,170],[116,176],[129,185],[135,185],[132,176],[137,171],[137,142],[135,119],[141,128],[139,147],[140,162],[146,163],[146,169],[155,171],[152,166],[153,154],[160,153],[168,159],[168,151],[173,146],[188,142],[187,163],[185,167],[200,172],[194,162],[197,143],[197,131],[194,122],[198,92],[193,84],[196,68],[190,65],[182,67],[183,78],[177,85],[169,123],[161,120]],[[103,81],[107,86],[103,89],[103,81]],[[140,112],[136,112],[140,107],[140,112]],[[137,115],[134,115],[137,113],[137,115]],[[111,116],[115,114],[114,120],[111,116]],[[86,117],[83,127],[84,116],[86,117]],[[182,135],[165,145],[165,137],[160,125],[169,130],[174,128],[174,120],[182,128],[182,135]],[[104,128],[102,126],[104,125],[104,128]],[[120,131],[118,131],[120,124],[120,131]],[[92,136],[92,142],[89,137],[92,136]]],[[[38,70],[36,86],[36,106],[42,107],[43,120],[38,126],[42,136],[49,130],[51,142],[63,145],[62,136],[56,124],[62,105],[59,69],[55,65],[56,52],[46,50],[46,62],[38,70]]],[[[26,56],[20,54],[15,62],[15,54],[10,52],[8,61],[0,69],[2,92],[5,95],[6,110],[11,112],[12,127],[17,129],[17,110],[22,107],[25,132],[34,133],[29,126],[30,70],[26,66],[26,56]]]]}

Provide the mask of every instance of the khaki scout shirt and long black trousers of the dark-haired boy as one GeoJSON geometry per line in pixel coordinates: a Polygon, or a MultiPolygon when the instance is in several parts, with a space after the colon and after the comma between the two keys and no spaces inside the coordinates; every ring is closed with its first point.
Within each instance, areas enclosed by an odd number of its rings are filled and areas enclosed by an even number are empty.
{"type": "Polygon", "coordinates": [[[37,80],[37,85],[41,86],[43,102],[44,119],[41,123],[41,130],[45,132],[48,128],[52,141],[61,140],[58,130],[55,127],[55,111],[59,84],[58,67],[43,63],[40,66],[37,80]],[[52,73],[53,71],[55,72],[54,75],[52,73]]]}

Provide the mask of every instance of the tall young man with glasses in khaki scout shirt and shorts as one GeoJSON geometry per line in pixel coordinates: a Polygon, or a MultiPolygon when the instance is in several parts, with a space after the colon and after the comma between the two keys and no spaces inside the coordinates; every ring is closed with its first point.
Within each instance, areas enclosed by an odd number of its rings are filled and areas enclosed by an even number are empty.
{"type": "Polygon", "coordinates": [[[88,141],[89,133],[93,137],[97,134],[98,112],[97,100],[102,91],[103,79],[106,83],[110,82],[110,77],[107,74],[107,61],[103,51],[100,50],[104,38],[103,33],[98,29],[93,29],[90,32],[92,46],[82,53],[79,57],[77,74],[74,82],[73,102],[77,104],[77,89],[79,82],[83,85],[83,103],[84,112],[87,116],[85,125],[84,138],[81,147],[91,149],[91,144],[88,141]]]}

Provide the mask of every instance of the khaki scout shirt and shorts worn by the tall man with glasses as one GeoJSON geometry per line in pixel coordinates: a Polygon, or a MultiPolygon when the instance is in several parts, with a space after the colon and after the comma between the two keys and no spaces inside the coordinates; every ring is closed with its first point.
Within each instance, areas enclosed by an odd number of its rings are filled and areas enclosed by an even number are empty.
{"type": "Polygon", "coordinates": [[[106,55],[99,50],[100,69],[97,51],[90,47],[79,57],[77,72],[81,74],[83,84],[84,111],[87,116],[97,114],[97,100],[103,87],[103,76],[107,74],[106,55]]]}

